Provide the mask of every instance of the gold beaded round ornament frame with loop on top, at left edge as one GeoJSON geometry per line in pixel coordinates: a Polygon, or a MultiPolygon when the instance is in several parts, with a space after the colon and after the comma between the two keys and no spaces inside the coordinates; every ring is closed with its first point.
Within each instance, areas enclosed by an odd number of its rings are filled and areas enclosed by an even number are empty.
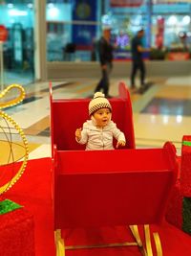
{"type": "MultiPolygon", "coordinates": [[[[19,90],[19,93],[20,93],[19,96],[8,101],[8,102],[0,103],[0,109],[6,108],[6,107],[12,106],[12,105],[17,105],[17,104],[21,103],[23,101],[23,99],[25,98],[25,90],[19,84],[11,84],[10,86],[8,86],[5,90],[3,90],[3,92],[0,93],[0,98],[5,97],[7,95],[7,93],[9,91],[11,91],[11,89],[14,89],[14,88],[19,90]]],[[[28,141],[26,139],[26,136],[25,136],[22,128],[20,128],[18,126],[18,124],[11,118],[11,116],[6,114],[2,110],[0,110],[0,116],[2,118],[6,119],[8,122],[10,122],[11,125],[18,131],[18,133],[20,134],[20,136],[22,138],[24,148],[25,148],[25,155],[24,155],[24,159],[23,159],[20,169],[11,178],[11,180],[9,182],[7,182],[6,184],[4,184],[0,187],[0,195],[1,195],[1,194],[5,193],[6,191],[8,191],[13,186],[13,184],[16,183],[16,181],[20,178],[20,176],[23,175],[23,173],[26,169],[26,166],[27,166],[28,158],[29,158],[29,147],[28,147],[28,141]]]]}

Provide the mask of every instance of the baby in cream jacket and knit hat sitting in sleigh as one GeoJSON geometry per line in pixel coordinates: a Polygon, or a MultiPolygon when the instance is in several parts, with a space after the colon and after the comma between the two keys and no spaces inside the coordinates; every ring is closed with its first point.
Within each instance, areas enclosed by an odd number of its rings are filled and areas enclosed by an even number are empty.
{"type": "Polygon", "coordinates": [[[86,144],[86,151],[114,150],[113,138],[117,139],[117,148],[126,144],[124,133],[111,120],[112,106],[101,92],[96,92],[89,104],[91,120],[83,124],[83,128],[75,130],[75,140],[86,144]]]}

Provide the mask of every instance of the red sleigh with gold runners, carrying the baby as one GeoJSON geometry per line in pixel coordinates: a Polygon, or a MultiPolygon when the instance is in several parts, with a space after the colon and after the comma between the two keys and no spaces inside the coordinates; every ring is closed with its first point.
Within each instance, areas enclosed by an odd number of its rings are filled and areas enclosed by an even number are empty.
{"type": "MultiPolygon", "coordinates": [[[[163,255],[190,255],[188,244],[191,239],[180,230],[169,228],[169,225],[151,225],[155,235],[150,238],[148,224],[162,223],[177,180],[176,150],[169,142],[161,149],[136,149],[130,95],[123,82],[118,88],[119,96],[110,102],[113,120],[125,133],[127,146],[115,151],[84,151],[84,147],[75,142],[74,131],[88,119],[90,100],[54,100],[51,88],[53,213],[57,256],[64,255],[65,250],[71,255],[67,249],[81,249],[76,255],[83,255],[83,249],[87,247],[107,246],[125,246],[124,254],[115,254],[114,251],[111,255],[139,255],[139,251],[148,256],[155,253],[162,255],[162,251],[163,255]],[[106,244],[103,241],[96,244],[87,241],[84,244],[86,241],[82,240],[81,244],[75,244],[76,241],[68,239],[69,235],[65,232],[79,228],[94,228],[102,232],[100,228],[105,226],[129,226],[135,243],[109,240],[106,244]],[[167,237],[171,239],[169,243],[166,243],[167,237]],[[177,248],[180,237],[184,242],[177,248]],[[126,245],[134,248],[129,250],[126,245]],[[180,254],[185,247],[186,252],[180,254]]],[[[92,235],[96,237],[97,232],[92,235]]],[[[96,251],[94,254],[93,249],[84,255],[107,255],[107,252],[101,253],[96,251]]]]}

